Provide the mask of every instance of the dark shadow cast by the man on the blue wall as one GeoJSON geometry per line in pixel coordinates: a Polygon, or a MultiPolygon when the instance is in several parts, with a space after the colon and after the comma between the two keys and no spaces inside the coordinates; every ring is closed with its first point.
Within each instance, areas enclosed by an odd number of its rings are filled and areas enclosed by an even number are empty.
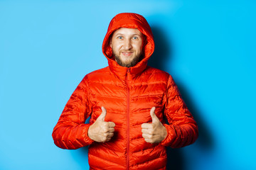
{"type": "MultiPolygon", "coordinates": [[[[155,67],[157,69],[164,70],[166,72],[169,71],[169,68],[166,68],[165,62],[170,60],[169,57],[173,57],[174,50],[171,40],[166,39],[166,35],[169,33],[164,33],[161,28],[153,26],[151,30],[154,34],[154,41],[155,41],[155,51],[152,57],[149,60],[149,65],[151,67],[155,67]]],[[[188,106],[189,111],[193,114],[193,117],[198,124],[199,129],[199,137],[196,142],[198,142],[198,146],[203,150],[210,150],[213,149],[214,141],[212,135],[210,135],[210,130],[207,128],[207,125],[204,121],[200,118],[201,111],[196,107],[197,104],[194,103],[193,97],[191,97],[186,91],[186,84],[180,84],[176,82],[179,91],[181,92],[182,98],[185,101],[186,105],[188,106]]],[[[184,165],[183,153],[181,149],[172,149],[171,147],[167,147],[167,169],[172,170],[183,170],[186,168],[184,165]]]]}

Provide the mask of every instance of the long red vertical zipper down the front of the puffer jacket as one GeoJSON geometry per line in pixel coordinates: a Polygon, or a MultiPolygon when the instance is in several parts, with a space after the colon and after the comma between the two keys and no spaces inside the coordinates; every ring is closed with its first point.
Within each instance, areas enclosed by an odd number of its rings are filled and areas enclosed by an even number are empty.
{"type": "Polygon", "coordinates": [[[126,77],[126,84],[127,84],[127,169],[129,169],[129,68],[127,69],[127,77],[126,77]]]}

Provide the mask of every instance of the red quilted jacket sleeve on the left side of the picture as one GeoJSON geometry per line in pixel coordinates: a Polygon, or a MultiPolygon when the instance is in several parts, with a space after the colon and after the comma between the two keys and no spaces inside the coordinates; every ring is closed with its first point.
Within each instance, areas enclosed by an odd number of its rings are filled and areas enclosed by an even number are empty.
{"type": "Polygon", "coordinates": [[[92,112],[92,104],[88,97],[89,92],[87,77],[85,76],[70,96],[57,125],[53,129],[53,140],[58,147],[78,149],[93,142],[87,135],[90,124],[85,124],[85,120],[92,112]]]}

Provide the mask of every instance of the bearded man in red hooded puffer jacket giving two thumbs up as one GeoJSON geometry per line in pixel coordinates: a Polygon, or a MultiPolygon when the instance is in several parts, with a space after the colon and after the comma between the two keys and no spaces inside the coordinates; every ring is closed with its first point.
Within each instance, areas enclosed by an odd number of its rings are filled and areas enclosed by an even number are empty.
{"type": "Polygon", "coordinates": [[[90,169],[166,169],[165,147],[192,144],[198,127],[172,77],[147,66],[154,40],[146,19],[119,13],[102,51],[109,66],[75,89],[53,130],[55,145],[90,145],[90,169]]]}

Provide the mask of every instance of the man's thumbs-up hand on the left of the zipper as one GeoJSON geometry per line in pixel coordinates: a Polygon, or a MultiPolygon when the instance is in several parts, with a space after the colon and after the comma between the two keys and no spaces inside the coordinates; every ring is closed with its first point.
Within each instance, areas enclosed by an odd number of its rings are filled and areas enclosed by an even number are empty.
{"type": "Polygon", "coordinates": [[[105,116],[107,114],[106,109],[102,106],[101,115],[95,120],[95,123],[90,125],[88,129],[88,137],[96,142],[108,142],[114,135],[113,122],[105,122],[105,116]]]}

